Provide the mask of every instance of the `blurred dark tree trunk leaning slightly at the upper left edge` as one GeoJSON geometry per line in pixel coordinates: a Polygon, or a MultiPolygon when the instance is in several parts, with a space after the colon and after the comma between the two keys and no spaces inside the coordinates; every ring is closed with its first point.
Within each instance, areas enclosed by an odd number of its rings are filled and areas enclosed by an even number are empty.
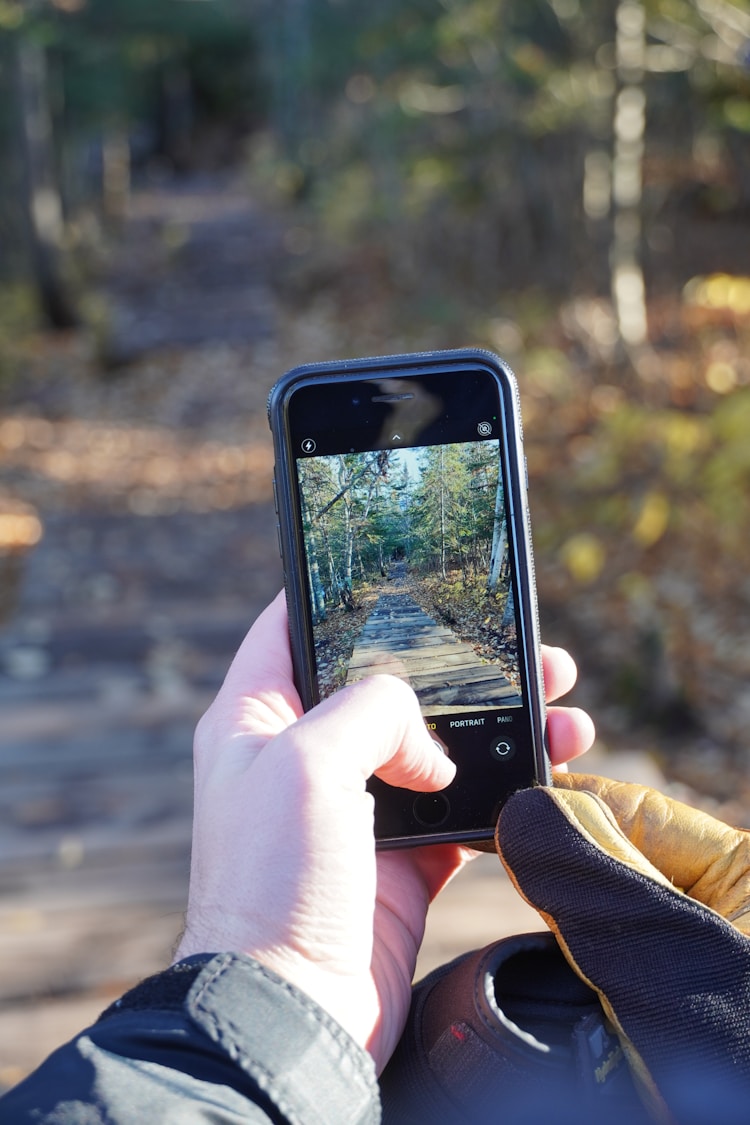
{"type": "Polygon", "coordinates": [[[24,35],[15,40],[13,78],[34,284],[47,325],[72,328],[79,318],[61,266],[64,222],[47,98],[47,58],[45,48],[24,35]]]}

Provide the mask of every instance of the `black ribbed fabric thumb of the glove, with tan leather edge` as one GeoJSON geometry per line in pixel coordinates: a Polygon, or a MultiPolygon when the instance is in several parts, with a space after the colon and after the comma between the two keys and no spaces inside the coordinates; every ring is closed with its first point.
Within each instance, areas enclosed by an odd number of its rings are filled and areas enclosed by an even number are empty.
{"type": "MultiPolygon", "coordinates": [[[[516,793],[496,842],[522,896],[598,992],[651,1108],[697,1120],[686,1114],[704,1096],[711,1106],[719,1092],[747,1099],[750,942],[674,886],[594,793],[516,793]]],[[[685,834],[685,850],[701,846],[685,834]]]]}

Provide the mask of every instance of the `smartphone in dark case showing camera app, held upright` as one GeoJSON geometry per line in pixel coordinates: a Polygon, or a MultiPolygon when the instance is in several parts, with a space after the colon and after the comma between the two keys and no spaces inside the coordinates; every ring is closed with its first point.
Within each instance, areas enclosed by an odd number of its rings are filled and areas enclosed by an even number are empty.
{"type": "Polygon", "coordinates": [[[406,680],[457,774],[439,793],[372,778],[378,846],[491,846],[507,796],[550,780],[513,374],[479,350],[298,367],[269,420],[304,706],[406,680]]]}

